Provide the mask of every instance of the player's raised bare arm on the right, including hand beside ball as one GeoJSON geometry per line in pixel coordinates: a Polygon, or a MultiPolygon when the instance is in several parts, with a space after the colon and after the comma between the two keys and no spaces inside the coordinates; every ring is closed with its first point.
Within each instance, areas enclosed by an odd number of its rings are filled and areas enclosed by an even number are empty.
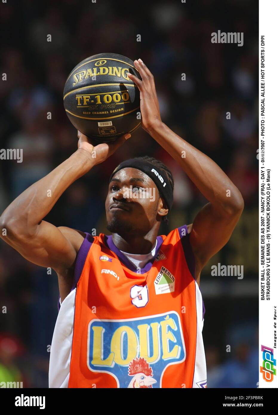
{"type": "Polygon", "coordinates": [[[134,61],[134,65],[142,81],[128,75],[140,91],[141,126],[177,161],[209,201],[189,227],[196,259],[195,273],[199,278],[207,261],[228,242],[241,216],[244,201],[237,187],[210,157],[161,121],[154,76],[140,59],[134,61]]]}

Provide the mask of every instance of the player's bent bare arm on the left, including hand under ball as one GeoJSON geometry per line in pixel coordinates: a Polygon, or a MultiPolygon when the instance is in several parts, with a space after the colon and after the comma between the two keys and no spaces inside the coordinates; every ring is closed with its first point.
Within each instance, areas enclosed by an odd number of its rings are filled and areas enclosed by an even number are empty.
{"type": "Polygon", "coordinates": [[[34,264],[53,268],[64,277],[73,266],[84,236],[74,229],[51,225],[43,218],[71,183],[105,161],[130,134],[112,144],[95,147],[83,134],[79,133],[78,137],[78,150],[47,176],[24,190],[0,217],[0,236],[5,242],[34,264]]]}

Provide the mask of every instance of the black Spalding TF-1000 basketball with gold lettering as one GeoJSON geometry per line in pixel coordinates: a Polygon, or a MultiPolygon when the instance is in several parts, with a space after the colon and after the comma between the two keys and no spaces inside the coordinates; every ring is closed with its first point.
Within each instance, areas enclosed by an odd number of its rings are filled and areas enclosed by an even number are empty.
{"type": "Polygon", "coordinates": [[[140,93],[128,72],[140,78],[131,59],[98,54],[78,63],[66,80],[66,114],[94,142],[113,141],[140,126],[140,93]]]}

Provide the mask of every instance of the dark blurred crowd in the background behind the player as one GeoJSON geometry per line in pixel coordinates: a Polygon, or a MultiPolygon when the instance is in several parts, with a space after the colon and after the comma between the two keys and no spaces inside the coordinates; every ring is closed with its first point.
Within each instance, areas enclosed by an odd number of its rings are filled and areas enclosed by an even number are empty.
{"type": "MultiPolygon", "coordinates": [[[[203,338],[207,387],[256,388],[257,2],[10,0],[0,7],[1,39],[5,39],[1,73],[7,73],[7,81],[0,85],[4,104],[0,148],[23,149],[22,163],[0,160],[0,213],[76,150],[76,130],[63,109],[63,87],[71,69],[102,52],[143,59],[155,77],[163,122],[219,164],[243,195],[245,209],[237,228],[201,275],[203,338]],[[212,44],[211,34],[218,29],[243,32],[244,45],[212,44]],[[47,34],[51,42],[46,41],[47,34]],[[181,80],[182,73],[186,81],[181,80]],[[244,278],[211,276],[211,266],[218,263],[243,265],[244,278]]],[[[206,200],[143,129],[73,183],[46,220],[107,233],[104,200],[110,173],[120,161],[145,154],[166,163],[175,180],[175,203],[169,224],[163,224],[160,233],[192,223],[206,200]]],[[[0,381],[48,386],[58,295],[54,271],[48,275],[0,242],[0,381]]]]}

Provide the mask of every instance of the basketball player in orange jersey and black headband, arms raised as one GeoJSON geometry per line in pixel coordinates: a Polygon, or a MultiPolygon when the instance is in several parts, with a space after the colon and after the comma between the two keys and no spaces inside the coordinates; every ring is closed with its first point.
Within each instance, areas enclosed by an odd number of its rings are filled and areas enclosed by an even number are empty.
{"type": "Polygon", "coordinates": [[[78,132],[78,150],[7,207],[3,240],[58,274],[50,387],[206,387],[200,272],[228,242],[244,203],[214,161],[161,121],[154,78],[141,59],[134,65],[142,80],[129,77],[140,90],[142,127],[209,203],[193,224],[158,236],[173,203],[173,178],[160,161],[143,157],[124,161],[110,177],[105,210],[111,236],[45,222],[68,186],[130,137],[93,148],[78,132]],[[134,197],[149,189],[154,198],[134,197]]]}

